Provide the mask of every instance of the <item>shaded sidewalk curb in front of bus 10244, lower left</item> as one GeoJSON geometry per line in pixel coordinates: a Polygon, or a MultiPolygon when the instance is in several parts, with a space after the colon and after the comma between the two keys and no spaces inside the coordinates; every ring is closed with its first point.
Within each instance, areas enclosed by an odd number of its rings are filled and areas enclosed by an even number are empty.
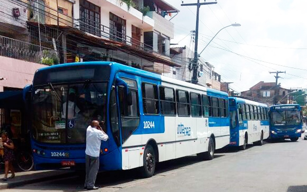
{"type": "Polygon", "coordinates": [[[75,172],[64,172],[64,173],[60,173],[57,175],[46,175],[46,176],[42,176],[40,178],[34,178],[34,179],[23,179],[23,180],[18,180],[16,182],[10,182],[10,183],[1,183],[0,184],[0,190],[3,189],[10,189],[10,188],[14,188],[14,187],[19,187],[22,185],[28,185],[28,184],[32,184],[32,183],[38,183],[38,182],[43,182],[43,181],[48,181],[48,180],[54,180],[54,179],[60,179],[63,177],[69,177],[72,175],[76,175],[75,172]]]}

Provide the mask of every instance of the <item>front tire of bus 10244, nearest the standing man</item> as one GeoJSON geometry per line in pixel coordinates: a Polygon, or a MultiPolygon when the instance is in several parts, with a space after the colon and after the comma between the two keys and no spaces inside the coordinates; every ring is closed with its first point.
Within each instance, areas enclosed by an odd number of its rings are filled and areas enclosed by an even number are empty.
{"type": "Polygon", "coordinates": [[[140,172],[142,177],[148,178],[152,177],[154,170],[156,168],[156,158],[153,147],[151,145],[146,146],[144,150],[143,157],[143,167],[141,167],[140,172]]]}

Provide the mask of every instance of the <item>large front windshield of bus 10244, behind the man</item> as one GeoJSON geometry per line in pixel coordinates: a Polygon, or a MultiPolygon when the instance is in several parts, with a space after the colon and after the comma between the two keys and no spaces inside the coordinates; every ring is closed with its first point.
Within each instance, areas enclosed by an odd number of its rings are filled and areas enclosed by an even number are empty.
{"type": "Polygon", "coordinates": [[[90,122],[105,121],[106,90],[107,83],[90,82],[34,87],[33,138],[44,143],[85,143],[90,122]]]}

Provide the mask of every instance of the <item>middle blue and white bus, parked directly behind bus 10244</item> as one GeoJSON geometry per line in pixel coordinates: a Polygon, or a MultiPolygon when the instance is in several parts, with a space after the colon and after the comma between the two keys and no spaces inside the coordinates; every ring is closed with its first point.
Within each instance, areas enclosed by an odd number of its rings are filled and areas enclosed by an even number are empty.
{"type": "Polygon", "coordinates": [[[267,105],[243,98],[229,97],[230,146],[246,149],[249,143],[262,145],[269,137],[267,105]]]}

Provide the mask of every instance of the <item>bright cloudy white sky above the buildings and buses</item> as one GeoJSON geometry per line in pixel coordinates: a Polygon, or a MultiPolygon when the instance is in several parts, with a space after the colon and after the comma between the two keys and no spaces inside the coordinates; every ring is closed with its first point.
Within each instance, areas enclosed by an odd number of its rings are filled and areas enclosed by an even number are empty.
{"type": "MultiPolygon", "coordinates": [[[[196,6],[180,6],[182,0],[167,2],[180,10],[171,20],[175,28],[171,43],[178,43],[171,47],[194,50],[189,34],[195,30],[196,6]]],[[[278,79],[282,87],[307,88],[306,7],[303,0],[217,0],[217,4],[202,5],[198,53],[217,31],[239,23],[220,31],[201,54],[221,74],[222,82],[233,82],[231,89],[241,92],[260,81],[275,82],[270,71],[285,71],[279,74],[283,79],[278,79]]]]}

